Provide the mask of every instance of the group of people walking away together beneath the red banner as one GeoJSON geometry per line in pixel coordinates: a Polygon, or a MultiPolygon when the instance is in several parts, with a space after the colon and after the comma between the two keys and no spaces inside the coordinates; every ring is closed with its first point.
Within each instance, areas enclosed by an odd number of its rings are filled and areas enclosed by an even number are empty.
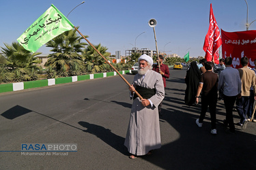
{"type": "Polygon", "coordinates": [[[197,126],[203,126],[203,118],[208,110],[211,117],[211,133],[216,131],[216,103],[224,101],[226,118],[223,124],[227,127],[227,133],[235,134],[235,124],[233,122],[233,109],[236,109],[240,116],[240,122],[236,125],[241,129],[246,129],[247,122],[256,122],[253,119],[255,112],[254,101],[256,100],[256,60],[255,67],[248,67],[248,58],[242,57],[240,62],[242,68],[231,67],[232,58],[221,58],[218,65],[214,62],[201,59],[199,65],[195,67],[195,62],[190,63],[186,72],[186,92],[185,103],[193,105],[199,103],[201,95],[201,113],[196,120],[197,126]],[[201,74],[199,74],[201,73],[201,74]],[[219,97],[218,97],[219,95],[219,97]],[[217,98],[218,97],[218,98],[217,98]],[[236,107],[234,105],[236,103],[236,107]]]}

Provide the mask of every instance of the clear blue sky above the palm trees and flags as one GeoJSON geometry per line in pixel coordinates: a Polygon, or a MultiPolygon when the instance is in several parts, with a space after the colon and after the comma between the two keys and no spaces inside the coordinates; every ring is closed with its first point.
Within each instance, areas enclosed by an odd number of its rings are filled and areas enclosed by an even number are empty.
{"type": "MultiPolygon", "coordinates": [[[[0,46],[12,44],[47,9],[51,3],[64,15],[82,0],[54,1],[1,1],[0,46]]],[[[248,2],[248,22],[256,20],[256,1],[248,2]]],[[[91,44],[102,44],[108,52],[137,48],[156,50],[154,31],[147,22],[157,20],[156,39],[158,50],[167,54],[204,56],[203,42],[209,27],[210,3],[218,27],[224,31],[245,31],[246,2],[244,0],[88,0],[73,10],[68,19],[91,44]],[[170,42],[170,43],[169,43],[170,42]]],[[[249,28],[256,29],[256,21],[249,28]]],[[[49,53],[42,46],[38,52],[49,53]]]]}

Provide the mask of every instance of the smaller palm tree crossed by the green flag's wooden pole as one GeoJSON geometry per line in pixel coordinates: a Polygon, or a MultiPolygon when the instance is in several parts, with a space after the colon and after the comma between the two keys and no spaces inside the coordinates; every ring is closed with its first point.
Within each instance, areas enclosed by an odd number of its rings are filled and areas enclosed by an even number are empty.
{"type": "MultiPolygon", "coordinates": [[[[94,46],[102,56],[104,56],[106,59],[107,56],[109,56],[109,52],[106,52],[108,48],[101,46],[101,44],[98,44],[97,46],[94,46]]],[[[107,63],[104,61],[102,56],[98,54],[94,48],[91,46],[87,46],[85,48],[83,55],[85,57],[85,69],[89,71],[90,73],[99,73],[104,71],[104,68],[106,68],[107,63]]]]}

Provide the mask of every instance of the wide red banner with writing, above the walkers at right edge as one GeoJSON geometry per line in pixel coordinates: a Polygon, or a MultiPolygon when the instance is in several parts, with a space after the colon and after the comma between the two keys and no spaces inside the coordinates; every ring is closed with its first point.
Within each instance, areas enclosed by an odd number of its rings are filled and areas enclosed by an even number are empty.
{"type": "Polygon", "coordinates": [[[254,61],[256,59],[256,31],[239,31],[226,32],[221,30],[221,38],[223,40],[222,54],[223,58],[231,56],[233,58],[233,67],[238,69],[240,59],[244,56],[249,58],[248,67],[255,67],[254,61]]]}

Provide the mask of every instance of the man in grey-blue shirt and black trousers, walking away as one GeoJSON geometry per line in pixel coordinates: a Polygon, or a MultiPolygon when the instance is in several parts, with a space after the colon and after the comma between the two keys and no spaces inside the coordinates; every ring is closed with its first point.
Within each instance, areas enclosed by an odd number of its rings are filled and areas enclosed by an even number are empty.
{"type": "Polygon", "coordinates": [[[225,126],[229,126],[229,133],[236,133],[235,125],[233,124],[233,105],[236,102],[238,94],[241,93],[241,80],[237,69],[233,69],[232,58],[225,58],[226,69],[221,71],[218,81],[218,89],[224,86],[223,99],[226,108],[225,126]]]}

